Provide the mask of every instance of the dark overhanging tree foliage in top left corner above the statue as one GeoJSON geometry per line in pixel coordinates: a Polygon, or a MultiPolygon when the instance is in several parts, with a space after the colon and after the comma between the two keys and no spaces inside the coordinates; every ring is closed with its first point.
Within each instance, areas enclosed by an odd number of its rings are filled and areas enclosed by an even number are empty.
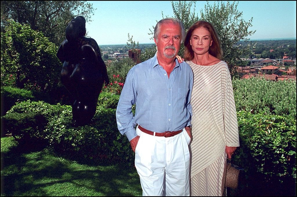
{"type": "Polygon", "coordinates": [[[59,46],[65,39],[65,28],[71,19],[82,15],[89,22],[93,12],[92,4],[86,1],[1,1],[1,32],[12,19],[42,31],[59,46]]]}

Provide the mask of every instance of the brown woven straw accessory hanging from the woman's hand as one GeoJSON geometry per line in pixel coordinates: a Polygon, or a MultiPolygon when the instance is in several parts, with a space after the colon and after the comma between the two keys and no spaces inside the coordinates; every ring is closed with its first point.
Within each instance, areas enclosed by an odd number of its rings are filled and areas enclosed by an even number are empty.
{"type": "Polygon", "coordinates": [[[241,170],[244,169],[231,163],[231,160],[227,158],[225,187],[231,187],[233,189],[238,187],[238,177],[241,170]]]}

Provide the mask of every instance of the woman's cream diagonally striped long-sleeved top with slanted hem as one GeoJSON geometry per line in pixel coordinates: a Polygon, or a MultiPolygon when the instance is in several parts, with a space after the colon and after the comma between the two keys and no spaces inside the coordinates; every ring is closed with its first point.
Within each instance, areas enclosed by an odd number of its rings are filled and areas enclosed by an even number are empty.
{"type": "Polygon", "coordinates": [[[194,73],[191,104],[191,177],[217,160],[225,146],[239,146],[233,86],[226,62],[201,66],[187,62],[194,73]]]}

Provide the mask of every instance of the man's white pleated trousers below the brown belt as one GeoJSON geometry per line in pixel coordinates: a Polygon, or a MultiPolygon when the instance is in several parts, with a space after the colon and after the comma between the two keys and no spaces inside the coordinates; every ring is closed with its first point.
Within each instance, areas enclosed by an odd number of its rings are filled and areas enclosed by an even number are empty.
{"type": "Polygon", "coordinates": [[[143,196],[189,196],[189,143],[187,131],[172,137],[143,133],[135,149],[135,167],[143,196]],[[164,185],[165,183],[165,185],[164,185]]]}

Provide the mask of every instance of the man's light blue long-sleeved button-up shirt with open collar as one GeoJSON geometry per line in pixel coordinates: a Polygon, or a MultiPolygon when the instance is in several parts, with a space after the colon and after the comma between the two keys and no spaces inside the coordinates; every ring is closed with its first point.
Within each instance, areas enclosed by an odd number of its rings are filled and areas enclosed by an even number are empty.
{"type": "Polygon", "coordinates": [[[129,141],[137,136],[135,124],[157,133],[191,125],[193,71],[186,62],[175,62],[170,78],[159,65],[157,53],[129,70],[116,109],[118,129],[129,141]]]}

